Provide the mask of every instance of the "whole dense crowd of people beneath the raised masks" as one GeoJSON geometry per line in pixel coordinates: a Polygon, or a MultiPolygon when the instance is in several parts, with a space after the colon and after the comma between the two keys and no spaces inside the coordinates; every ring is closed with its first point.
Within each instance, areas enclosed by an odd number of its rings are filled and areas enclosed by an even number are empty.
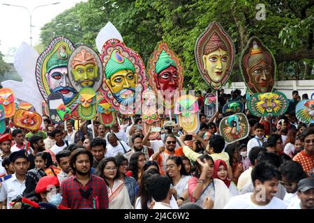
{"type": "MultiPolygon", "coordinates": [[[[197,97],[202,113],[192,140],[178,124],[149,140],[141,116],[110,127],[71,119],[66,130],[44,116],[36,132],[8,121],[0,137],[0,208],[314,208],[314,128],[295,116],[297,91],[281,116],[258,118],[246,109],[248,137],[232,144],[218,129],[226,114],[205,116],[204,95],[197,97]]],[[[232,100],[245,104],[246,97],[220,91],[219,111],[232,100]]]]}

